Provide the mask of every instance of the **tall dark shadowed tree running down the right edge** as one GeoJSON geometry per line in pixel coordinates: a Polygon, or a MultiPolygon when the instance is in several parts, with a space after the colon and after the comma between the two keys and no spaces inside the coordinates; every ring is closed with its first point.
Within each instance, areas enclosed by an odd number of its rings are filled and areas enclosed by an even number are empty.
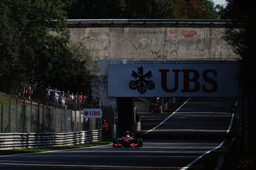
{"type": "Polygon", "coordinates": [[[227,29],[224,39],[233,48],[233,51],[242,58],[240,67],[240,88],[242,91],[241,99],[243,100],[242,108],[242,129],[245,141],[245,149],[251,153],[255,161],[255,88],[253,80],[256,79],[255,62],[256,62],[256,42],[255,26],[256,14],[254,12],[254,1],[248,0],[227,0],[225,8],[225,17],[230,19],[227,22],[227,29]]]}

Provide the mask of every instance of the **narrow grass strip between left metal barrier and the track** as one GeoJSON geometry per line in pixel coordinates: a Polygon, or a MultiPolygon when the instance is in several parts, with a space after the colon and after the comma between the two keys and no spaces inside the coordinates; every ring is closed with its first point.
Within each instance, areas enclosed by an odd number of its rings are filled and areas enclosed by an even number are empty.
{"type": "Polygon", "coordinates": [[[27,153],[38,153],[38,152],[47,152],[47,151],[56,151],[56,150],[67,150],[67,149],[76,149],[76,148],[87,148],[95,147],[99,145],[111,144],[113,140],[111,137],[104,137],[101,141],[84,143],[77,145],[69,145],[62,147],[40,147],[40,148],[26,148],[26,149],[11,149],[11,150],[0,150],[0,156],[2,155],[15,155],[15,154],[27,154],[27,153]]]}

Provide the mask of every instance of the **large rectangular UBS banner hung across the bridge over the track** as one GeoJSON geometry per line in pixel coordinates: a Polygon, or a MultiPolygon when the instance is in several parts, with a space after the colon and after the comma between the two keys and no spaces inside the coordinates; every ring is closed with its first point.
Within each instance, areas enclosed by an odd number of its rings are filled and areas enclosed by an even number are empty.
{"type": "Polygon", "coordinates": [[[109,65],[108,96],[238,96],[238,61],[109,65]]]}

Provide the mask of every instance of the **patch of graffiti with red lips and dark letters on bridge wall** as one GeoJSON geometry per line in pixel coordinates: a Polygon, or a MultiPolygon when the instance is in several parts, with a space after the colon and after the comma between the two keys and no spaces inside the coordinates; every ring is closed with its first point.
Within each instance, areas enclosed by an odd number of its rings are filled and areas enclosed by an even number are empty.
{"type": "MultiPolygon", "coordinates": [[[[130,43],[136,51],[143,51],[143,54],[148,51],[150,54],[147,55],[154,59],[178,58],[179,51],[184,51],[193,45],[194,50],[198,50],[197,47],[201,46],[200,39],[191,39],[197,35],[197,30],[174,28],[167,29],[167,34],[170,36],[163,37],[164,33],[162,33],[162,38],[160,38],[161,34],[159,38],[145,37],[146,34],[143,34],[133,40],[130,39],[130,43]]],[[[148,35],[152,35],[151,32],[148,32],[148,35]]]]}

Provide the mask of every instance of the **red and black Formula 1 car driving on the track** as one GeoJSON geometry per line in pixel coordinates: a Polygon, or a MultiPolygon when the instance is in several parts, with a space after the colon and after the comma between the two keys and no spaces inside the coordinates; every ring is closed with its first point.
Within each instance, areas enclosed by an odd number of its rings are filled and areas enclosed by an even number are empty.
{"type": "Polygon", "coordinates": [[[135,133],[124,132],[123,136],[120,138],[113,139],[113,147],[142,147],[142,138],[135,138],[135,133]]]}

